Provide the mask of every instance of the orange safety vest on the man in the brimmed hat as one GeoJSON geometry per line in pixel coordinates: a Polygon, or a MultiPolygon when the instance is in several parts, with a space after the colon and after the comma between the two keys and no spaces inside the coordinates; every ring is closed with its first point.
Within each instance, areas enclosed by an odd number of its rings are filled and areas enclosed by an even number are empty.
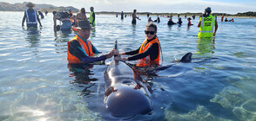
{"type": "MultiPolygon", "coordinates": [[[[92,57],[94,55],[94,53],[92,52],[92,44],[90,40],[87,40],[87,44],[81,39],[79,38],[78,35],[76,35],[71,41],[78,41],[82,50],[84,51],[84,53],[86,53],[88,56],[92,57]]],[[[69,51],[69,45],[70,42],[68,41],[67,45],[68,45],[68,57],[67,59],[69,60],[70,63],[81,63],[81,60],[79,60],[76,56],[72,55],[69,51]]]]}

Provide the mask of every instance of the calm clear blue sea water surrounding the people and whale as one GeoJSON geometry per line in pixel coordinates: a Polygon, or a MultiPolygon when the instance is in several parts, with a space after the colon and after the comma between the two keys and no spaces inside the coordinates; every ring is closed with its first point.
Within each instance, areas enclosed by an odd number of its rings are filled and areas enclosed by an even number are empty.
{"type": "MultiPolygon", "coordinates": [[[[73,32],[53,32],[52,14],[43,28],[22,29],[24,12],[0,12],[0,120],[113,120],[104,107],[104,70],[72,71],[66,60],[73,32]]],[[[118,40],[120,52],[144,41],[146,16],[98,15],[90,40],[104,54],[118,40]]],[[[152,16],[156,19],[156,16],[152,16]]],[[[256,32],[253,18],[220,22],[214,40],[198,40],[192,27],[167,26],[160,17],[158,38],[164,63],[192,52],[192,63],[158,72],[152,80],[153,111],[131,120],[256,120],[256,32]]],[[[229,18],[231,19],[231,18],[229,18]]],[[[178,19],[175,16],[174,22],[178,19]]],[[[107,62],[111,61],[107,60],[107,62]]]]}

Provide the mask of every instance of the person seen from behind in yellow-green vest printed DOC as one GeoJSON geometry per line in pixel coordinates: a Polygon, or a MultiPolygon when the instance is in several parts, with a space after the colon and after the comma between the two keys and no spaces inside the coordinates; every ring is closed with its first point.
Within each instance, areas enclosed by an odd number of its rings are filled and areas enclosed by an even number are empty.
{"type": "Polygon", "coordinates": [[[218,29],[217,17],[210,15],[211,12],[211,8],[207,7],[204,15],[199,19],[199,38],[210,38],[216,35],[218,29]]]}

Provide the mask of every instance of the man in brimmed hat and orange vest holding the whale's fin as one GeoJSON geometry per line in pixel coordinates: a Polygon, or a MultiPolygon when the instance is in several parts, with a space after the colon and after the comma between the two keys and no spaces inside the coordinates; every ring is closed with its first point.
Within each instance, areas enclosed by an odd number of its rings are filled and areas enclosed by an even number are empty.
{"type": "Polygon", "coordinates": [[[94,57],[94,54],[98,54],[97,48],[95,48],[91,41],[88,40],[91,34],[90,22],[87,20],[80,20],[77,23],[77,34],[71,41],[68,41],[68,57],[70,64],[74,63],[91,63],[95,61],[106,60],[111,58],[114,54],[118,54],[116,49],[112,49],[108,54],[104,54],[98,57],[94,57]]]}

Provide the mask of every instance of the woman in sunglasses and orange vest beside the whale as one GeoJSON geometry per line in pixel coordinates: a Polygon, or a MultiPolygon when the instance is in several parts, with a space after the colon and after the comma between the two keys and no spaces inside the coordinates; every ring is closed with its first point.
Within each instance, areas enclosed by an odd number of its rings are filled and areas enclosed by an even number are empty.
{"type": "Polygon", "coordinates": [[[138,60],[137,67],[157,67],[160,62],[160,42],[158,41],[157,25],[148,22],[145,26],[145,41],[142,45],[131,52],[122,54],[131,55],[130,57],[121,58],[119,60],[138,60]]]}

